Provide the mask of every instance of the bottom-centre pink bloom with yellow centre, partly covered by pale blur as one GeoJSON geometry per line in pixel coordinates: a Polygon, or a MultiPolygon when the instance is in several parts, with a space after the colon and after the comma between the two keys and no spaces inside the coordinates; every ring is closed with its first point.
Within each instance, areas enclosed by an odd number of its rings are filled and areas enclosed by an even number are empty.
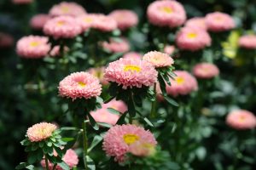
{"type": "Polygon", "coordinates": [[[130,152],[131,144],[140,141],[142,143],[157,144],[154,135],[143,127],[135,125],[116,125],[111,127],[103,139],[103,150],[108,156],[114,156],[115,161],[125,161],[125,154],[130,152]]]}

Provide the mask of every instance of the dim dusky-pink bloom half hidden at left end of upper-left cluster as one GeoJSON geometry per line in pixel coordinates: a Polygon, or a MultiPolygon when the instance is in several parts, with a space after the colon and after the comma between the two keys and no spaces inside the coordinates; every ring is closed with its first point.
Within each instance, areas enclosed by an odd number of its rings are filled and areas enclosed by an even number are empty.
{"type": "Polygon", "coordinates": [[[35,30],[42,30],[49,19],[48,14],[36,14],[30,20],[30,26],[35,30]]]}

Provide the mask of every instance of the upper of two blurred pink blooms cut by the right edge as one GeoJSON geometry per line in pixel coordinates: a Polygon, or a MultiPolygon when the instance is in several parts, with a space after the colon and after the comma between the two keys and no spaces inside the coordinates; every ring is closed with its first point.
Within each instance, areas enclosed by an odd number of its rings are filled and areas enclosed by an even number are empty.
{"type": "Polygon", "coordinates": [[[256,48],[256,36],[246,35],[239,39],[239,46],[241,48],[255,49],[256,48]]]}

